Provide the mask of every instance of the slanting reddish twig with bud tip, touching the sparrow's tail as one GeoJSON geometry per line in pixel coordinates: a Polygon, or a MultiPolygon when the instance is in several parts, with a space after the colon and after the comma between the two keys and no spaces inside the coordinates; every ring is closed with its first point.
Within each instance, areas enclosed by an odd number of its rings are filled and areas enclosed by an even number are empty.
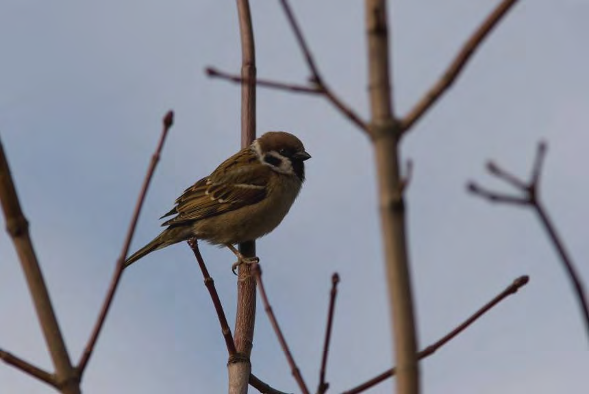
{"type": "Polygon", "coordinates": [[[139,214],[141,213],[143,201],[145,201],[145,196],[147,195],[147,188],[149,188],[149,183],[151,182],[151,178],[155,172],[155,167],[158,165],[158,161],[160,160],[160,155],[162,153],[162,149],[164,148],[164,141],[166,140],[168,131],[174,123],[174,112],[168,111],[162,122],[163,125],[162,134],[160,135],[160,142],[158,143],[158,147],[155,149],[153,156],[151,156],[149,169],[147,169],[147,173],[145,174],[145,179],[143,180],[143,185],[137,199],[137,204],[135,205],[135,210],[133,212],[133,216],[131,217],[131,223],[129,223],[129,230],[127,230],[127,236],[125,236],[125,242],[123,242],[121,255],[118,256],[118,260],[116,260],[116,268],[114,269],[114,274],[112,275],[112,280],[110,281],[104,303],[102,304],[98,319],[94,325],[94,328],[92,329],[92,334],[90,335],[88,343],[86,344],[84,352],[82,353],[82,356],[80,357],[77,365],[80,376],[82,376],[84,373],[84,370],[88,365],[88,360],[90,360],[90,356],[92,356],[92,352],[94,351],[94,347],[98,341],[98,337],[104,325],[106,315],[108,314],[108,310],[110,309],[112,300],[114,299],[114,293],[116,293],[116,288],[118,287],[119,282],[121,282],[121,276],[123,275],[123,270],[125,269],[125,258],[129,253],[129,246],[131,245],[131,240],[133,239],[133,234],[135,233],[135,228],[137,226],[139,214]]]}

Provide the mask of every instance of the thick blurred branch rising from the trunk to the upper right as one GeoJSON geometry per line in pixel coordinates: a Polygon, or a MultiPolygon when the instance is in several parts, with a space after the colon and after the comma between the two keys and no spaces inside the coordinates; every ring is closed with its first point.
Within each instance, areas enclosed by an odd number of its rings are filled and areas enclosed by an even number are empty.
{"type": "Polygon", "coordinates": [[[475,51],[479,49],[481,43],[485,40],[492,29],[503,19],[503,16],[517,3],[518,0],[503,0],[497,8],[487,17],[487,19],[479,26],[476,32],[458,52],[458,55],[451,62],[448,69],[444,72],[444,75],[436,82],[434,86],[425,94],[425,96],[416,103],[414,108],[403,118],[401,121],[401,129],[403,132],[407,132],[410,128],[421,119],[423,114],[431,108],[431,106],[442,97],[444,93],[450,88],[455,82],[455,79],[463,71],[464,66],[471,60],[475,51]]]}

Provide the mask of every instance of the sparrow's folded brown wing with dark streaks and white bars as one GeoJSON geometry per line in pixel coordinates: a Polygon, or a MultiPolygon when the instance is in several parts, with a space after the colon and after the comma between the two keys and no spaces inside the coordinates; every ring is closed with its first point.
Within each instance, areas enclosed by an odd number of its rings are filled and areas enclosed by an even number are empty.
{"type": "Polygon", "coordinates": [[[268,193],[271,169],[248,151],[225,160],[213,173],[186,189],[176,206],[163,217],[177,214],[162,225],[199,221],[258,203],[268,193]]]}

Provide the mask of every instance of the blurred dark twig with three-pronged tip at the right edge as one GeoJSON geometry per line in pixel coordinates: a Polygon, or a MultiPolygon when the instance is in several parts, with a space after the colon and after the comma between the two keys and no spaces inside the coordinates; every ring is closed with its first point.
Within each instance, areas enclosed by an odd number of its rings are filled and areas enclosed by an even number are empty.
{"type": "Polygon", "coordinates": [[[575,268],[575,263],[568,254],[568,251],[566,251],[564,243],[556,231],[556,227],[552,223],[546,208],[544,208],[542,201],[540,201],[540,190],[538,186],[540,184],[540,175],[542,172],[544,156],[546,156],[546,150],[546,143],[541,142],[538,144],[538,151],[536,153],[536,159],[534,160],[534,167],[532,168],[531,177],[528,182],[519,179],[504,169],[501,169],[493,162],[490,162],[487,165],[487,169],[492,175],[514,186],[514,188],[519,190],[522,195],[513,196],[505,195],[503,193],[496,193],[492,190],[483,188],[474,182],[470,182],[468,184],[468,190],[471,191],[471,193],[494,203],[526,206],[532,208],[534,212],[536,212],[538,219],[540,219],[540,223],[542,223],[542,227],[544,227],[544,230],[546,230],[552,245],[554,245],[557,254],[560,257],[560,261],[562,262],[564,269],[568,274],[568,279],[571,281],[571,284],[573,284],[573,288],[575,289],[575,296],[577,297],[579,307],[581,308],[581,315],[583,315],[587,336],[589,336],[589,306],[587,304],[583,282],[581,282],[581,277],[575,268]]]}

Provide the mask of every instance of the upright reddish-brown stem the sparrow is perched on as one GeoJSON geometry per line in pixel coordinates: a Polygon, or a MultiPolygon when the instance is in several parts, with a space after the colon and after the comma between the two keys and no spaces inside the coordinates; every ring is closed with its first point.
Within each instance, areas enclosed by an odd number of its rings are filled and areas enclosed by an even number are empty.
{"type": "MultiPolygon", "coordinates": [[[[242,50],[241,76],[241,146],[247,147],[255,139],[255,47],[248,0],[237,0],[242,50]]],[[[242,243],[239,249],[244,256],[255,256],[255,243],[242,243]]],[[[237,282],[237,312],[235,346],[237,354],[229,357],[229,393],[247,393],[255,323],[255,278],[249,264],[241,264],[237,282]]]]}

